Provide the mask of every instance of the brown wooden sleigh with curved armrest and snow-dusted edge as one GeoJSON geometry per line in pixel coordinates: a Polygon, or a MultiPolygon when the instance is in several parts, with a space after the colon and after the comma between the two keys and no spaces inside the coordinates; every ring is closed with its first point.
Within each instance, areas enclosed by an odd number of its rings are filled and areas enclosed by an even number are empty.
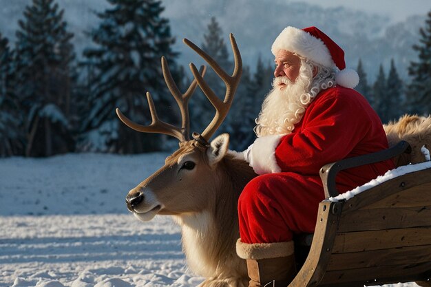
{"type": "MultiPolygon", "coordinates": [[[[407,142],[399,142],[379,153],[322,167],[326,200],[319,204],[312,242],[308,236],[308,256],[303,264],[299,258],[302,267],[289,287],[408,281],[431,286],[430,168],[388,180],[349,200],[332,200],[338,195],[335,176],[339,171],[392,158],[409,149],[407,142]]],[[[299,255],[307,249],[304,244],[296,245],[299,255]]]]}

